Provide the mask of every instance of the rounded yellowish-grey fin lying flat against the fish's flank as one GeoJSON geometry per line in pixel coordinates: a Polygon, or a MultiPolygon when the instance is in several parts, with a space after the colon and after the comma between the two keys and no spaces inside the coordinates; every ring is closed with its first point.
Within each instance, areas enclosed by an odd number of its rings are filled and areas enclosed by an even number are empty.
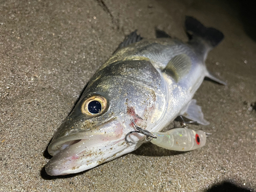
{"type": "Polygon", "coordinates": [[[180,54],[170,59],[167,66],[163,69],[163,72],[166,72],[178,82],[189,72],[190,68],[190,58],[186,54],[180,54]]]}

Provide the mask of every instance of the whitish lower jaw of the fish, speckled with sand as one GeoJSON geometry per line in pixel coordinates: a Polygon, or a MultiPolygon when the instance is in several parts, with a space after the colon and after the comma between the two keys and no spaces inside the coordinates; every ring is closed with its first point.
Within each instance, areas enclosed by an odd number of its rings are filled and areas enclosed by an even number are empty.
{"type": "Polygon", "coordinates": [[[86,140],[80,140],[59,150],[47,163],[45,169],[51,176],[75,174],[119,157],[116,157],[116,154],[126,147],[124,140],[91,143],[91,145],[88,145],[86,140]]]}

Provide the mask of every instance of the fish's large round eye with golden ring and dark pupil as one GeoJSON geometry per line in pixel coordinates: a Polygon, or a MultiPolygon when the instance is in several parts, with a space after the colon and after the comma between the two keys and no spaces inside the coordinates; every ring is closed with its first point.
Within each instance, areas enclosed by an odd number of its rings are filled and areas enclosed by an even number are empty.
{"type": "Polygon", "coordinates": [[[82,113],[95,116],[100,115],[106,110],[107,101],[101,95],[93,95],[83,101],[81,106],[82,113]]]}

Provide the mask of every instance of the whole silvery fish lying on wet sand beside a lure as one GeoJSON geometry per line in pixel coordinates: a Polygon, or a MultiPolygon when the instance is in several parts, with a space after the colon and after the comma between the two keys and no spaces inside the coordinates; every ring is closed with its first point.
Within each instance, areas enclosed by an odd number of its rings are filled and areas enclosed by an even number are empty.
{"type": "MultiPolygon", "coordinates": [[[[133,152],[146,138],[136,126],[157,136],[178,116],[209,124],[193,96],[205,77],[226,85],[205,65],[224,35],[191,16],[185,18],[185,30],[187,42],[160,30],[154,39],[134,31],[121,42],[52,138],[48,175],[83,172],[133,152]],[[126,142],[127,134],[132,143],[126,142]]],[[[155,144],[161,146],[161,141],[155,144]]]]}

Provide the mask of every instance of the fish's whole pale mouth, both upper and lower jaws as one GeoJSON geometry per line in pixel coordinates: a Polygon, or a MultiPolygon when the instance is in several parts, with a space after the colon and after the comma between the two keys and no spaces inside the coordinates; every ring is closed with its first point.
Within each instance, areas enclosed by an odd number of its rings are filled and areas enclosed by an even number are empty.
{"type": "Polygon", "coordinates": [[[53,157],[45,169],[51,176],[82,172],[116,158],[116,154],[126,147],[123,126],[112,120],[90,131],[52,141],[48,152],[53,157]]]}

